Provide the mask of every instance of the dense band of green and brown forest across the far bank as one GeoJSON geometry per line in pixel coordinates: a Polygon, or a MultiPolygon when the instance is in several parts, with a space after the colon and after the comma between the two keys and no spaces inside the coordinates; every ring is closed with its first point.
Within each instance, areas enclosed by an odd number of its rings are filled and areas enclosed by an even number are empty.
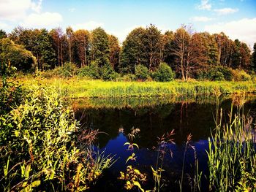
{"type": "MultiPolygon", "coordinates": [[[[21,72],[76,68],[76,74],[113,80],[118,76],[166,81],[175,76],[208,80],[249,80],[256,71],[254,50],[224,33],[197,33],[181,26],[165,34],[154,25],[133,29],[122,45],[103,28],[48,31],[17,27],[0,30],[1,63],[21,72]],[[168,74],[168,78],[162,77],[168,74]],[[161,75],[162,74],[162,75],[161,75]]],[[[52,71],[52,70],[51,70],[52,71]]]]}

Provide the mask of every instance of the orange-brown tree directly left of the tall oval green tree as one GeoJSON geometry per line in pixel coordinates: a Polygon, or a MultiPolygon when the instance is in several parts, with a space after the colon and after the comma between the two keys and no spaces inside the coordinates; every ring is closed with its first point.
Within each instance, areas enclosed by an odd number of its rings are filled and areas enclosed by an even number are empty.
{"type": "Polygon", "coordinates": [[[80,66],[85,66],[88,64],[89,55],[89,31],[80,29],[74,32],[75,39],[75,55],[78,58],[80,66]]]}

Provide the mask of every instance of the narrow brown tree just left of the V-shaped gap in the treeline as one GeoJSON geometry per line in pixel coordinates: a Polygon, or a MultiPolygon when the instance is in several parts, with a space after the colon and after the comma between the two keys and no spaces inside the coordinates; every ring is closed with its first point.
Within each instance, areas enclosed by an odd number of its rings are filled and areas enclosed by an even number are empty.
{"type": "Polygon", "coordinates": [[[120,54],[120,46],[117,37],[113,35],[108,36],[108,42],[109,42],[109,60],[112,68],[117,71],[118,65],[119,65],[119,54],[120,54]]]}

